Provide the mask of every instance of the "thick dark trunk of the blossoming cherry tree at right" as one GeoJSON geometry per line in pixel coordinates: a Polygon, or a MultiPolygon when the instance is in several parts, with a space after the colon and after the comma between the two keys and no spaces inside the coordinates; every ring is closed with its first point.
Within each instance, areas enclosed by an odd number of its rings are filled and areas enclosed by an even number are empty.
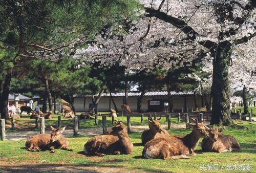
{"type": "Polygon", "coordinates": [[[231,44],[228,41],[220,42],[216,51],[212,49],[213,60],[212,73],[212,118],[211,125],[230,125],[232,120],[230,117],[229,104],[229,82],[228,82],[228,66],[231,54],[231,44]]]}

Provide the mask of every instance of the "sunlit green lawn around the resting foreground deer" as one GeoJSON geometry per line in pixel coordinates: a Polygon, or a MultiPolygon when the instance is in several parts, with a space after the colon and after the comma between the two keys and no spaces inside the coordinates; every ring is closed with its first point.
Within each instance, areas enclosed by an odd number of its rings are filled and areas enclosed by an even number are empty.
{"type": "MultiPolygon", "coordinates": [[[[137,118],[134,122],[139,123],[137,118]]],[[[226,127],[223,134],[230,134],[238,139],[242,152],[231,153],[201,153],[201,145],[199,144],[196,150],[197,156],[189,159],[181,160],[160,160],[160,159],[144,159],[141,157],[143,146],[140,146],[141,133],[132,133],[130,138],[134,143],[134,152],[131,155],[120,156],[105,156],[105,157],[88,157],[80,154],[83,150],[84,143],[91,136],[78,136],[68,138],[69,147],[74,149],[74,152],[56,149],[55,154],[50,154],[49,151],[31,153],[27,152],[23,147],[25,141],[0,141],[1,159],[9,164],[26,163],[69,163],[75,165],[95,166],[95,167],[116,167],[122,168],[124,171],[141,170],[154,172],[199,172],[200,165],[204,164],[219,164],[224,165],[221,172],[229,172],[226,170],[226,164],[251,164],[252,169],[247,172],[256,171],[256,123],[245,121],[235,121],[236,128],[226,127]]],[[[187,134],[190,131],[187,129],[171,129],[171,134],[187,134]]],[[[65,133],[65,132],[64,132],[65,133]]],[[[201,142],[202,139],[200,139],[201,142]]],[[[1,163],[0,163],[1,165],[1,163]]],[[[211,170],[210,172],[212,172],[211,170]]],[[[219,170],[220,171],[220,170],[219,170]]],[[[216,172],[219,172],[216,171],[216,172]]],[[[233,171],[232,171],[233,172],[233,171]]],[[[239,172],[237,170],[237,172],[239,172]]]]}

